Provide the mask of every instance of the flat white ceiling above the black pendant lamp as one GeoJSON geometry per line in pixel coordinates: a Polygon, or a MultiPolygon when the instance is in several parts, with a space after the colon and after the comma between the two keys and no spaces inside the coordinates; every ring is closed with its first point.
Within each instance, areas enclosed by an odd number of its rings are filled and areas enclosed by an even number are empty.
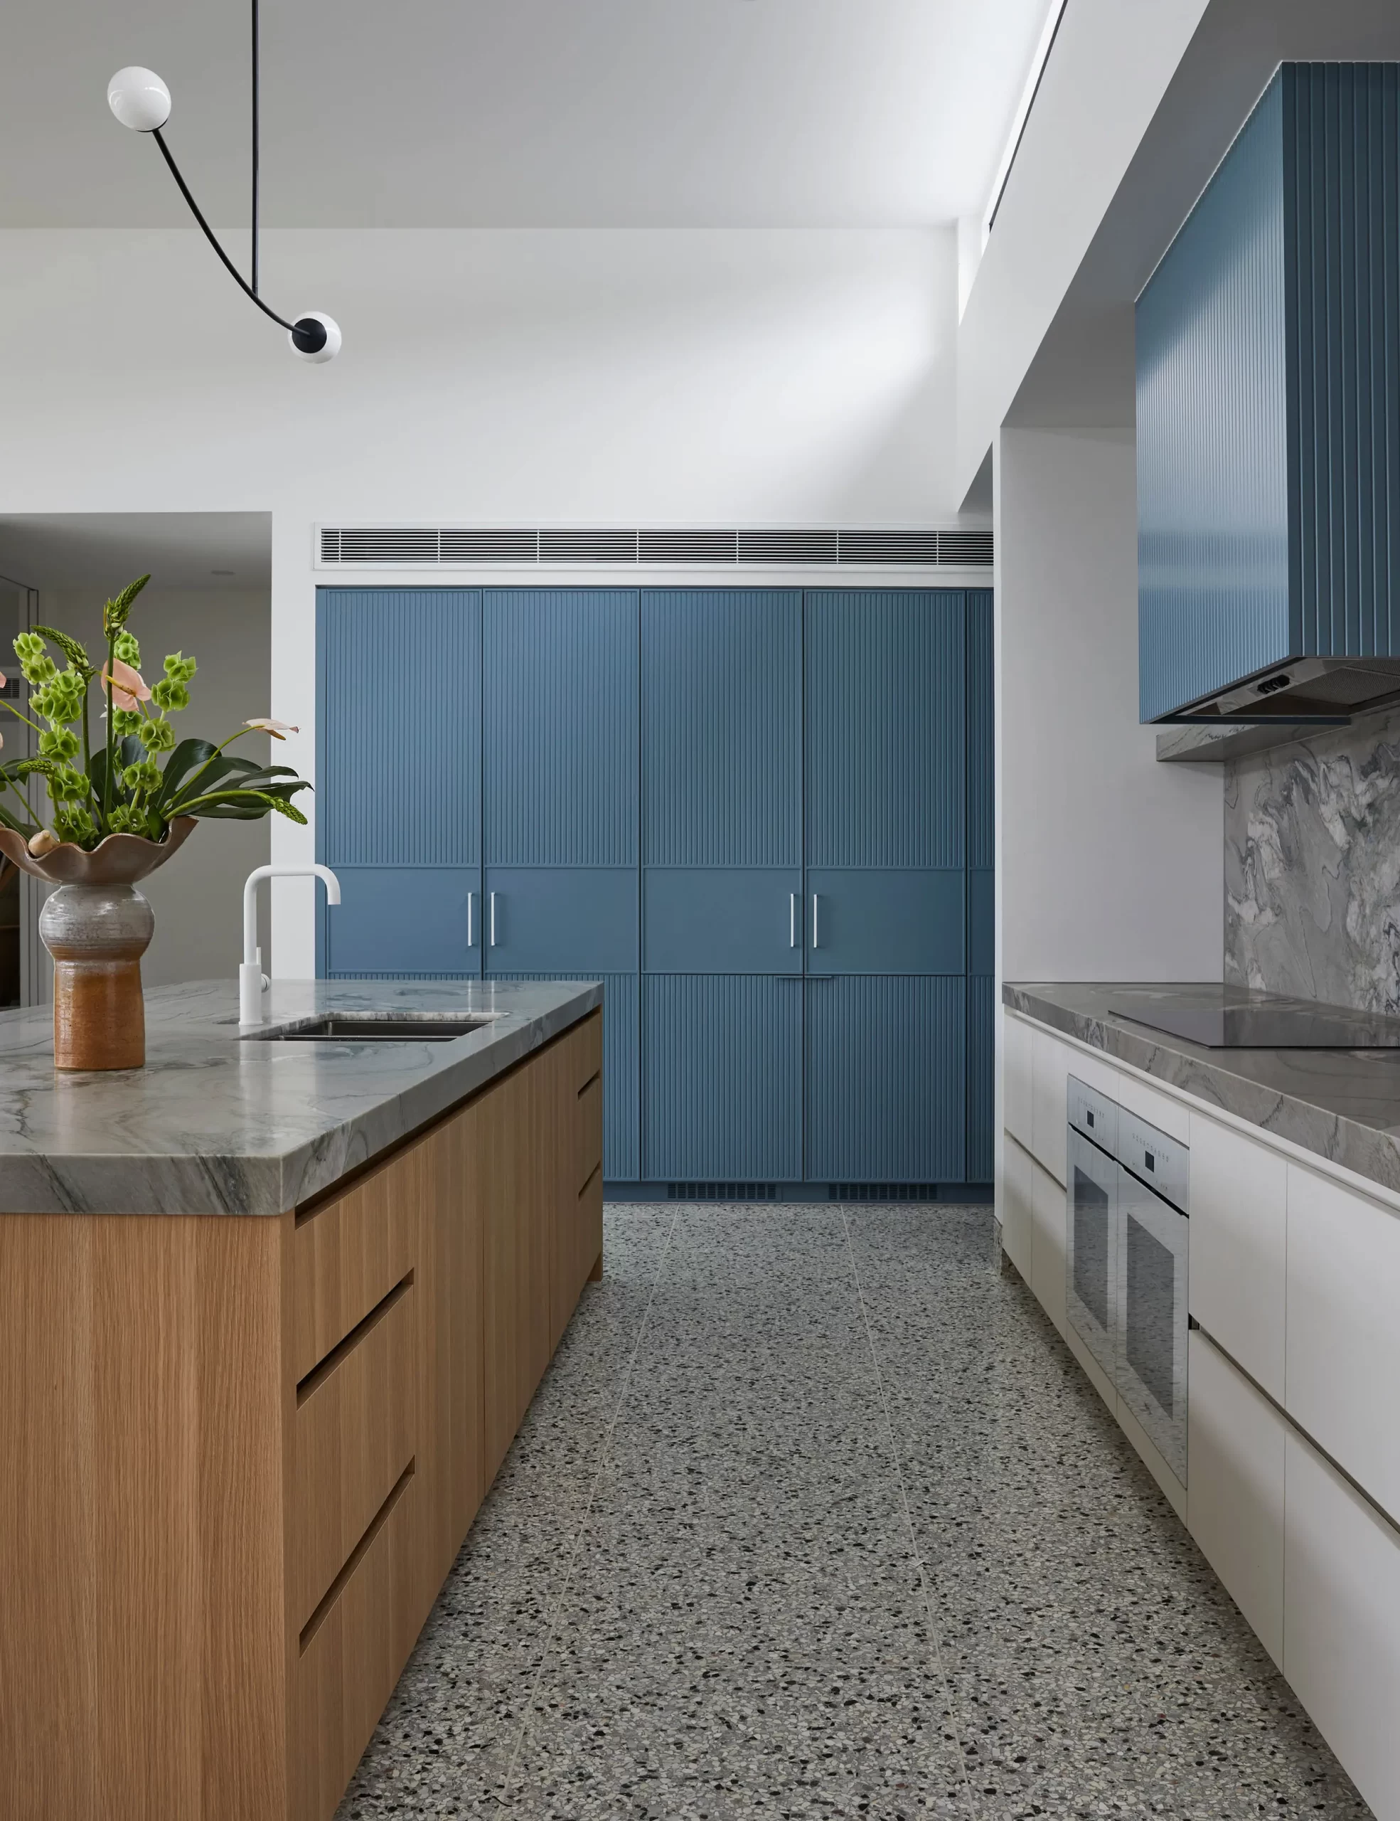
{"type": "MultiPolygon", "coordinates": [[[[262,0],[268,226],[925,226],[979,213],[1047,0],[262,0]]],[[[248,219],[248,0],[5,0],[0,226],[186,226],[107,76],[248,219]]]]}

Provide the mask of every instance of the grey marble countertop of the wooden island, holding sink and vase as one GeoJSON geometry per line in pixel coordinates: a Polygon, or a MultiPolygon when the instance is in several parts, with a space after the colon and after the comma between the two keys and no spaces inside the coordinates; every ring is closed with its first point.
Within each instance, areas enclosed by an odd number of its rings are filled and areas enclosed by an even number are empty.
{"type": "Polygon", "coordinates": [[[597,982],[279,980],[320,1011],[490,1012],[451,1042],[240,1040],[233,980],[146,994],[146,1067],[60,1074],[47,1007],[0,1012],[0,1213],[280,1215],[603,1003],[597,982]]]}

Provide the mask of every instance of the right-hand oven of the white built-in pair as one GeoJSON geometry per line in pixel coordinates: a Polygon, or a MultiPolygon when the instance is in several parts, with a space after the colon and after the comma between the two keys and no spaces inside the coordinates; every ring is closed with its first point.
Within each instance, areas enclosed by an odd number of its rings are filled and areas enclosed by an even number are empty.
{"type": "Polygon", "coordinates": [[[1191,1153],[1118,1114],[1118,1395],[1187,1479],[1187,1218],[1191,1153]]]}

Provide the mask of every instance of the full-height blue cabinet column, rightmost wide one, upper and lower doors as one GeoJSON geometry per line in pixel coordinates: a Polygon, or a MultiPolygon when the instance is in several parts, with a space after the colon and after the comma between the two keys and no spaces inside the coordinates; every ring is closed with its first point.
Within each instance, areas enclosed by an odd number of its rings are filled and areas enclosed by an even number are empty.
{"type": "Polygon", "coordinates": [[[807,597],[807,1176],[965,1175],[967,601],[807,597]]]}

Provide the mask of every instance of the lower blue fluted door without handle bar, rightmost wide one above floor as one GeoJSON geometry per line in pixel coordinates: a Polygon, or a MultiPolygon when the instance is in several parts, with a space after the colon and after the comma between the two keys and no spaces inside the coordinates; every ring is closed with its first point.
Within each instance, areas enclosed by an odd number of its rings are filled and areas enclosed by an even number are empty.
{"type": "Polygon", "coordinates": [[[828,974],[807,992],[807,1176],[963,1182],[967,982],[828,974]]]}

